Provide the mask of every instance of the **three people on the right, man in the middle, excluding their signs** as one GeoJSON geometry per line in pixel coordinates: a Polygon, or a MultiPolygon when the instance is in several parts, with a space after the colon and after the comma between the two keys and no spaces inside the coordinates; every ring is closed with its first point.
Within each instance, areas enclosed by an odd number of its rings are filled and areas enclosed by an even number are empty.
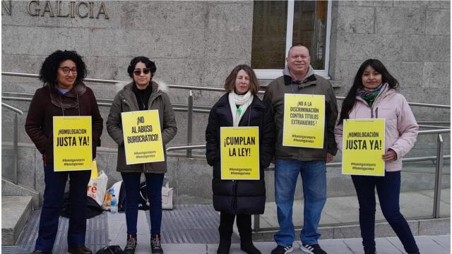
{"type": "Polygon", "coordinates": [[[251,67],[235,67],[225,80],[227,94],[210,110],[206,129],[206,158],[213,166],[213,206],[220,212],[220,244],[218,254],[230,252],[232,226],[237,217],[240,248],[259,254],[251,238],[251,214],[263,214],[266,188],[263,169],[275,164],[275,202],[280,229],[271,254],[293,251],[295,228],[292,222],[295,187],[302,177],[304,221],[300,234],[300,250],[309,254],[326,253],[319,246],[317,230],[326,203],[326,163],[338,149],[342,150],[344,119],[386,119],[385,176],[352,176],[359,200],[359,225],[365,254],[376,253],[375,195],[379,194],[383,215],[391,224],[409,254],[419,253],[410,227],[400,214],[400,169],[405,156],[417,138],[418,126],[403,95],[396,92],[398,81],[377,59],[364,61],[343,102],[340,119],[333,87],[325,78],[314,74],[309,49],[302,44],[292,46],[287,54],[283,75],[273,80],[263,95],[257,97],[259,85],[251,67]],[[323,147],[291,147],[283,145],[285,95],[323,95],[325,126],[323,147]],[[258,126],[259,180],[222,180],[220,177],[220,128],[258,126]]]}

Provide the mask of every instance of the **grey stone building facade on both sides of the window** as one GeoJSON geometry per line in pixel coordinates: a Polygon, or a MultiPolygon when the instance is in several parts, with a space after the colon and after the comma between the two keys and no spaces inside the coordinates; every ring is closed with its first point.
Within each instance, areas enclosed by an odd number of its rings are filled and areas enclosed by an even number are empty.
{"type": "MultiPolygon", "coordinates": [[[[222,87],[234,66],[251,63],[252,1],[74,3],[71,6],[69,1],[2,1],[2,71],[38,73],[46,56],[56,49],[70,49],[84,56],[90,71],[88,78],[129,81],[126,73],[129,61],[133,56],[145,55],[157,65],[158,82],[222,87]],[[30,13],[39,13],[38,16],[28,13],[28,4],[30,13]],[[67,17],[58,17],[66,14],[67,17]],[[87,17],[81,18],[85,14],[87,17]]],[[[398,78],[400,92],[409,102],[450,105],[449,1],[333,1],[332,4],[329,76],[338,96],[346,95],[359,65],[374,58],[383,61],[398,78]]],[[[261,81],[263,85],[269,82],[261,81]]],[[[41,85],[36,78],[2,76],[2,92],[32,94],[41,85]]],[[[88,85],[98,99],[112,99],[124,83],[88,85]]],[[[172,102],[177,104],[186,104],[188,94],[188,90],[179,89],[169,92],[172,102]]],[[[195,105],[212,106],[222,93],[194,90],[193,95],[195,105]]],[[[19,142],[31,143],[23,128],[29,102],[20,99],[4,102],[25,111],[18,118],[19,142]]],[[[109,107],[101,106],[100,111],[106,120],[109,107]]],[[[413,111],[422,121],[450,119],[450,109],[413,107],[413,111]]],[[[3,107],[2,113],[2,138],[11,141],[13,114],[3,107]]],[[[185,145],[186,112],[177,111],[176,115],[179,131],[169,145],[185,145]]],[[[205,143],[207,117],[206,113],[194,113],[194,144],[205,143]]],[[[448,140],[449,136],[445,138],[448,140]]],[[[415,155],[433,155],[435,145],[436,136],[420,137],[415,155]]],[[[105,128],[102,147],[107,150],[116,147],[105,128]]],[[[115,157],[104,152],[100,158],[105,163],[100,167],[113,174],[115,157]]],[[[20,177],[28,175],[27,167],[33,167],[30,170],[34,172],[35,167],[41,167],[40,164],[30,166],[29,162],[30,158],[19,163],[20,177]]],[[[172,170],[183,169],[181,174],[189,179],[186,171],[196,171],[198,163],[172,159],[172,170]]],[[[176,177],[175,172],[169,175],[176,177]]],[[[203,169],[203,176],[210,178],[208,169],[203,169]]],[[[40,186],[42,177],[33,179],[33,185],[40,186]]],[[[190,181],[178,185],[191,185],[190,181]]],[[[206,181],[193,192],[209,188],[210,182],[206,181]]],[[[202,202],[209,197],[203,196],[202,202]]],[[[199,199],[190,202],[196,200],[199,199]]]]}

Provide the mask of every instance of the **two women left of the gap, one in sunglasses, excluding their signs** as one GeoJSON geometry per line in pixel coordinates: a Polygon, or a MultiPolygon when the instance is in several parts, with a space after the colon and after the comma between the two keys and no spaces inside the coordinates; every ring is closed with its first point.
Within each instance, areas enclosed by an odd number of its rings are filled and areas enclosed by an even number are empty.
{"type": "MultiPolygon", "coordinates": [[[[177,133],[174,111],[165,93],[165,86],[152,78],[155,63],[145,56],[131,60],[127,73],[132,82],[118,92],[107,119],[107,131],[118,144],[117,171],[121,173],[126,191],[127,241],[124,253],[133,254],[137,246],[138,203],[140,179],[143,173],[150,200],[150,247],[152,253],[163,253],[160,225],[162,222],[162,183],[167,171],[164,162],[126,164],[121,113],[157,110],[160,119],[161,140],[165,145],[177,133]]],[[[64,188],[69,176],[68,252],[91,254],[85,246],[87,186],[90,171],[54,171],[52,119],[54,116],[91,116],[93,128],[93,159],[100,146],[103,120],[93,90],[85,86],[87,70],[76,52],[60,51],[50,54],[42,63],[40,80],[44,86],[35,92],[25,121],[25,131],[42,153],[44,164],[44,202],[39,233],[33,254],[52,253],[57,237],[59,214],[63,205],[64,188]]],[[[164,149],[165,151],[165,149],[164,149]]]]}

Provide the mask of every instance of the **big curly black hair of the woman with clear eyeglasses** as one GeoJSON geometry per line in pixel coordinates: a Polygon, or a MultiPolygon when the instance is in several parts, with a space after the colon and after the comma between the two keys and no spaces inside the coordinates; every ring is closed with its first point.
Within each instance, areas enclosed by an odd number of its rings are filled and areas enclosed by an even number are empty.
{"type": "Polygon", "coordinates": [[[71,60],[76,63],[77,66],[77,78],[76,84],[81,82],[83,78],[88,75],[88,70],[86,69],[85,63],[82,57],[75,51],[61,51],[57,50],[53,52],[44,60],[40,71],[40,80],[44,82],[44,85],[50,85],[54,87],[57,82],[57,70],[62,61],[71,60]]]}

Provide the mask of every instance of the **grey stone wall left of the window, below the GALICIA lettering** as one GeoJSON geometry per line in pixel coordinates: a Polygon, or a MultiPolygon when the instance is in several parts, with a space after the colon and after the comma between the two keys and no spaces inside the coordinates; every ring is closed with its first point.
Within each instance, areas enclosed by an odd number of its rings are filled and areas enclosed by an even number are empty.
{"type": "MultiPolygon", "coordinates": [[[[8,6],[10,1],[4,1],[8,6]]],[[[99,18],[57,17],[57,1],[33,3],[11,1],[11,16],[2,8],[2,71],[39,73],[45,57],[56,49],[76,50],[84,56],[88,78],[131,79],[126,68],[134,56],[150,57],[157,65],[155,80],[174,85],[222,87],[225,77],[239,63],[251,63],[251,1],[95,1],[94,13],[105,4],[99,18]],[[54,17],[50,17],[52,8],[54,17]],[[44,16],[42,16],[44,14],[44,16]]],[[[68,1],[60,4],[69,13],[68,1]]],[[[80,1],[76,1],[78,5],[80,1]]],[[[85,7],[81,6],[81,13],[85,7]]],[[[2,76],[2,91],[33,93],[42,84],[35,78],[2,76]]],[[[97,98],[112,99],[121,85],[89,83],[97,98]]],[[[124,84],[122,84],[124,85],[124,84]]],[[[188,90],[170,90],[174,103],[187,103],[188,90]]],[[[196,105],[213,105],[218,92],[194,92],[196,105]]],[[[27,102],[8,101],[28,110],[27,102]]],[[[107,119],[108,107],[101,107],[107,119]]],[[[3,110],[4,123],[11,125],[12,114],[3,110]]],[[[25,116],[23,116],[25,119],[25,116]]],[[[204,142],[206,114],[194,114],[194,143],[204,142]]],[[[30,143],[20,121],[20,142],[30,143]]],[[[177,112],[179,132],[172,145],[186,143],[186,113],[177,112]]],[[[2,135],[9,141],[11,128],[2,135]]],[[[102,146],[116,147],[107,131],[102,146]]]]}

